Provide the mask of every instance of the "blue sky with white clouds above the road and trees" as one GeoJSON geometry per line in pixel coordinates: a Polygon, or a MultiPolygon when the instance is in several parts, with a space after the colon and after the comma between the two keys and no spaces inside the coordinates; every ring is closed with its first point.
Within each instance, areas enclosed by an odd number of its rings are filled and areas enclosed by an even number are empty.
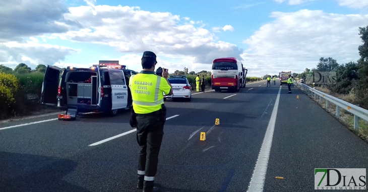
{"type": "Polygon", "coordinates": [[[302,72],[320,57],[356,61],[368,1],[0,0],[0,65],[89,67],[119,60],[141,70],[145,50],[169,72],[210,71],[216,57],[242,60],[249,76],[302,72]],[[21,14],[19,14],[21,13],[21,14]],[[25,30],[26,29],[26,30],[25,30]]]}

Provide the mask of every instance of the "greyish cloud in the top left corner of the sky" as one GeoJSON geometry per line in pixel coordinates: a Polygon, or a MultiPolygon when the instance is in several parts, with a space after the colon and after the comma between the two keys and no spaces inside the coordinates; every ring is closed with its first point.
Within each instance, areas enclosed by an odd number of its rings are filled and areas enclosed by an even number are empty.
{"type": "Polygon", "coordinates": [[[0,0],[0,42],[21,41],[22,37],[37,36],[45,33],[67,32],[80,25],[65,20],[68,12],[62,0],[53,1],[7,1],[0,0]]]}

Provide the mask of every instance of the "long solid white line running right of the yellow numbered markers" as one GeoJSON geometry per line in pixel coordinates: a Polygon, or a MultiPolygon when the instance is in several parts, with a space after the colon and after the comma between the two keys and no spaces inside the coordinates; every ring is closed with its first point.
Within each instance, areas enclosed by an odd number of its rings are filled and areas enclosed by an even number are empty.
{"type": "Polygon", "coordinates": [[[268,159],[270,157],[273,132],[275,130],[277,109],[279,107],[280,92],[281,92],[281,87],[279,89],[279,93],[277,94],[277,98],[276,98],[275,105],[272,110],[270,122],[268,123],[267,131],[265,134],[265,138],[263,139],[261,151],[258,155],[256,166],[254,168],[251,182],[249,183],[247,191],[252,191],[252,192],[258,192],[258,191],[262,192],[263,191],[263,186],[265,183],[265,177],[266,177],[266,172],[267,172],[268,159]]]}

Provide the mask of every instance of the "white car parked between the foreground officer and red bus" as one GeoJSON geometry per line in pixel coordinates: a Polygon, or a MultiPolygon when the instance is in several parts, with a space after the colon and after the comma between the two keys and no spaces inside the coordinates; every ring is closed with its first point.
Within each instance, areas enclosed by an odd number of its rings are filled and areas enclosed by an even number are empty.
{"type": "Polygon", "coordinates": [[[192,99],[192,86],[189,84],[187,76],[170,76],[167,79],[171,86],[172,86],[172,93],[173,96],[166,96],[165,93],[163,94],[164,100],[167,98],[186,98],[187,101],[191,101],[192,99]]]}

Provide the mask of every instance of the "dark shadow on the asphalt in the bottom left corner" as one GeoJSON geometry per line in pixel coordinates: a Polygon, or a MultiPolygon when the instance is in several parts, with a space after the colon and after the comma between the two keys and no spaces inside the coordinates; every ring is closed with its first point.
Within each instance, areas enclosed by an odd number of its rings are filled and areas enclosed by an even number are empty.
{"type": "Polygon", "coordinates": [[[0,152],[0,191],[87,192],[63,180],[76,167],[76,162],[67,159],[0,152]]]}

